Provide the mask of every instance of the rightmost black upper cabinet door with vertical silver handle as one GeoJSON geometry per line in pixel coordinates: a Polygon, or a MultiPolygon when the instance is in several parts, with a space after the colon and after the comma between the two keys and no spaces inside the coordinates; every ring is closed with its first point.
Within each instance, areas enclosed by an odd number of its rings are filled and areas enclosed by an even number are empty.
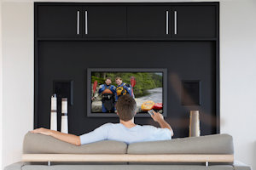
{"type": "Polygon", "coordinates": [[[172,37],[216,37],[216,6],[172,7],[172,37]]]}

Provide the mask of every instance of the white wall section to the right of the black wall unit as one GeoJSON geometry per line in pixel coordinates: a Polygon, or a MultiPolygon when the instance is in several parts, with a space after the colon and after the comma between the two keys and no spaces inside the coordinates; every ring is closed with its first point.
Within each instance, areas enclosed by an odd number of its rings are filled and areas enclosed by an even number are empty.
{"type": "Polygon", "coordinates": [[[220,16],[220,129],[256,169],[256,1],[224,1],[220,16]]]}

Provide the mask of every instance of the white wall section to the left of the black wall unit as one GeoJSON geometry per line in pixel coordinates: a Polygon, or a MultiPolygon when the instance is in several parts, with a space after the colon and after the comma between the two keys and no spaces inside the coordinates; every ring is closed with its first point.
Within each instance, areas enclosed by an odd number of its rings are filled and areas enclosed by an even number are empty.
{"type": "Polygon", "coordinates": [[[33,128],[33,4],[3,3],[3,166],[33,128]]]}

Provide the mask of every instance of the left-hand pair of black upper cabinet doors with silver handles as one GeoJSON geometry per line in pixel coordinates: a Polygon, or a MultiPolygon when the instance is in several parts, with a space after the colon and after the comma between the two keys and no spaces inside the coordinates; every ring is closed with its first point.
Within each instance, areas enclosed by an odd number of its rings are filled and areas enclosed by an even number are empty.
{"type": "Polygon", "coordinates": [[[126,7],[39,6],[38,37],[125,37],[126,7]]]}

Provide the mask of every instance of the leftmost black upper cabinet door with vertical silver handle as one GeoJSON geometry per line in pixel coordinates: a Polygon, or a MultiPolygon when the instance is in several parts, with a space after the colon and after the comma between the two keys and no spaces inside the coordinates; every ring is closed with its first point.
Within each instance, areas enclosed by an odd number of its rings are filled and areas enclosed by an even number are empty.
{"type": "Polygon", "coordinates": [[[38,37],[82,37],[82,8],[78,6],[38,6],[38,37]]]}

